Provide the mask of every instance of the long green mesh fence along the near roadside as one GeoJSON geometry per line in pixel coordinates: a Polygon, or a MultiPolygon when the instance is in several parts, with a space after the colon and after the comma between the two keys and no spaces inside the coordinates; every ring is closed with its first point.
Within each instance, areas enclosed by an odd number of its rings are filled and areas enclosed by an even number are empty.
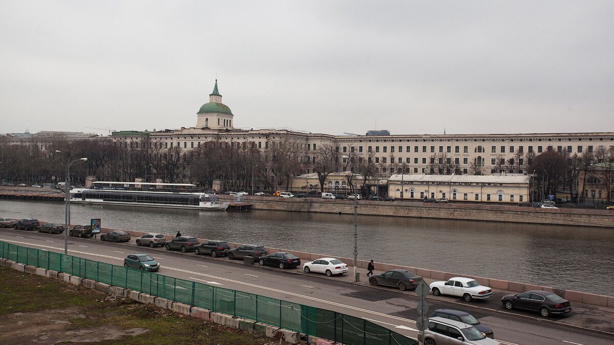
{"type": "Polygon", "coordinates": [[[1,257],[156,297],[199,306],[306,335],[361,345],[417,345],[414,339],[358,317],[110,263],[1,242],[1,257]]]}

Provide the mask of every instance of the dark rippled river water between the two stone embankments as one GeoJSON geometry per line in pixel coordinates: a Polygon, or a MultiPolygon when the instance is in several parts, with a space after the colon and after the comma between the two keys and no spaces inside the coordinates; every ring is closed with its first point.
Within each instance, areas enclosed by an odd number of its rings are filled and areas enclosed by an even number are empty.
{"type": "MultiPolygon", "coordinates": [[[[64,222],[64,204],[0,200],[0,217],[64,222]]],[[[71,205],[71,222],[352,257],[353,217],[71,205]]],[[[359,216],[359,259],[614,296],[614,230],[359,216]]]]}

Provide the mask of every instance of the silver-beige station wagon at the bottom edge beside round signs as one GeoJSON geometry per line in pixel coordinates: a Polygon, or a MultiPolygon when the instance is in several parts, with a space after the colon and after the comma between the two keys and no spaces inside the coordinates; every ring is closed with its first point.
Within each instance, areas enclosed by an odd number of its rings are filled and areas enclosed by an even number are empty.
{"type": "Polygon", "coordinates": [[[500,345],[499,341],[488,338],[478,328],[465,322],[429,317],[429,327],[418,333],[418,341],[425,345],[471,344],[500,345]]]}

